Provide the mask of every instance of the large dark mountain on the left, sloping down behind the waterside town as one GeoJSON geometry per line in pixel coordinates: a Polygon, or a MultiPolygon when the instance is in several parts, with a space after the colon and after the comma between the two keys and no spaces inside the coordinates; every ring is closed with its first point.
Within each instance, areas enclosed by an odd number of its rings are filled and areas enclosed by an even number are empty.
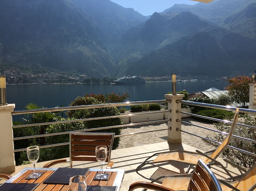
{"type": "Polygon", "coordinates": [[[101,30],[68,0],[1,1],[0,29],[6,63],[99,77],[109,76],[115,66],[101,30]]]}

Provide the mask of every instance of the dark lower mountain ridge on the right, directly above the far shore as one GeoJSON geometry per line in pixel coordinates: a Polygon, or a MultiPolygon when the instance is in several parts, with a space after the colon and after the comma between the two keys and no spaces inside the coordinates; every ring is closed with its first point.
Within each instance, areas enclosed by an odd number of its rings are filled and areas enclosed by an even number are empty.
{"type": "Polygon", "coordinates": [[[212,27],[179,39],[153,51],[125,71],[138,75],[220,76],[243,75],[251,72],[256,63],[256,41],[212,27]],[[242,66],[242,67],[241,67],[242,66]]]}

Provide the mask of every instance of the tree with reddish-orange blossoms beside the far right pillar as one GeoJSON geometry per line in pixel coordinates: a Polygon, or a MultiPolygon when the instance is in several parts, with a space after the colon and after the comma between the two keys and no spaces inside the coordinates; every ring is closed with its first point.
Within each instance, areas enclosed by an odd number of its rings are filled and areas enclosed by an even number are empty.
{"type": "Polygon", "coordinates": [[[229,79],[229,86],[227,87],[228,94],[232,101],[242,104],[249,102],[249,84],[252,79],[247,76],[238,76],[229,79]]]}

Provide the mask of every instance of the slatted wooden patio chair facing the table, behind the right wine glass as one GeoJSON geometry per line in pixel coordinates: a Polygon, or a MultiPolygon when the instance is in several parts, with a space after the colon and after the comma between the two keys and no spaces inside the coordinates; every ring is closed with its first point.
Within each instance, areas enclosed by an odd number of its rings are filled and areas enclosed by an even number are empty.
{"type": "Polygon", "coordinates": [[[73,161],[97,161],[95,157],[95,147],[98,145],[107,146],[107,168],[112,168],[114,162],[111,162],[111,150],[113,146],[115,133],[69,133],[69,161],[59,159],[48,162],[43,167],[48,168],[60,162],[70,162],[70,168],[73,167],[73,161]]]}

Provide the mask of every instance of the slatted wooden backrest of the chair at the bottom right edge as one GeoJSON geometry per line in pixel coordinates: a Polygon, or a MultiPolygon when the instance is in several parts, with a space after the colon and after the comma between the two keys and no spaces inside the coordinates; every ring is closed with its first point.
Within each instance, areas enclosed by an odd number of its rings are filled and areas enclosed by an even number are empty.
{"type": "Polygon", "coordinates": [[[222,191],[219,181],[201,159],[193,172],[188,191],[222,191]]]}

